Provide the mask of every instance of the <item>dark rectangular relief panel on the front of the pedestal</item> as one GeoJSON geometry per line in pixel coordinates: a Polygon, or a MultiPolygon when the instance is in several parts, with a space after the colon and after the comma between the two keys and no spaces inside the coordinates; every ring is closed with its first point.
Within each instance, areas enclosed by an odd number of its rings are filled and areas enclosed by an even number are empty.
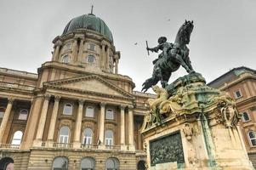
{"type": "Polygon", "coordinates": [[[151,166],[177,161],[183,163],[184,153],[179,132],[150,141],[151,166]]]}

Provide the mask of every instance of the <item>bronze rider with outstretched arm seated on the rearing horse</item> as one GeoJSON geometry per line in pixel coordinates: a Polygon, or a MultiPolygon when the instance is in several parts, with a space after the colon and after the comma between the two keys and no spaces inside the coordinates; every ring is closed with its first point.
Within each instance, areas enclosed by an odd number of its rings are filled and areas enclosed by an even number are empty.
{"type": "MultiPolygon", "coordinates": [[[[158,55],[158,59],[161,59],[164,56],[168,55],[168,50],[173,48],[174,44],[167,42],[167,38],[166,37],[159,37],[158,38],[158,45],[155,48],[146,48],[147,50],[150,50],[151,52],[158,52],[159,49],[162,50],[162,53],[158,55]]],[[[153,60],[153,65],[156,64],[156,61],[158,59],[153,60]]]]}

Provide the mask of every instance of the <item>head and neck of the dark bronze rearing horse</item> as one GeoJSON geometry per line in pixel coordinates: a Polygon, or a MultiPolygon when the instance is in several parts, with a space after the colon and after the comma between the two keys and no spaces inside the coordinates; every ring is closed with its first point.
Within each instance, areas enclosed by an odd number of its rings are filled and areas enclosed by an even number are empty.
{"type": "Polygon", "coordinates": [[[193,31],[193,27],[193,20],[185,20],[185,23],[179,28],[175,43],[179,43],[180,45],[189,44],[191,41],[191,32],[193,31]]]}

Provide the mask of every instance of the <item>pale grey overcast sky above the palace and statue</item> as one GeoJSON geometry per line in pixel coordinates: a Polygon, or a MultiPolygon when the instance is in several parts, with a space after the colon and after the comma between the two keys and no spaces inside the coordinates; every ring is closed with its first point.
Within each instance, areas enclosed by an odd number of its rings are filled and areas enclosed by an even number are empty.
{"type": "MultiPolygon", "coordinates": [[[[174,42],[185,19],[194,20],[192,65],[207,82],[234,67],[256,69],[255,0],[0,0],[0,67],[37,72],[51,59],[54,37],[92,4],[121,51],[119,73],[133,78],[135,90],[151,77],[158,55],[147,56],[145,40],[150,47],[161,36],[174,42]]],[[[185,74],[180,68],[169,82],[185,74]]]]}

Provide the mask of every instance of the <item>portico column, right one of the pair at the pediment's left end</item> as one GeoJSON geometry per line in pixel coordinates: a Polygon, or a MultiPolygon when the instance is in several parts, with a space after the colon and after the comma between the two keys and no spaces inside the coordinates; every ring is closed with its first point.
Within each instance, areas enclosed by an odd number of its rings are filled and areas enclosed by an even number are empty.
{"type": "Polygon", "coordinates": [[[60,96],[54,96],[54,109],[51,116],[50,127],[48,129],[48,146],[49,147],[52,147],[54,143],[54,131],[55,131],[55,125],[56,125],[57,116],[58,116],[59,103],[60,103],[60,96]]]}

